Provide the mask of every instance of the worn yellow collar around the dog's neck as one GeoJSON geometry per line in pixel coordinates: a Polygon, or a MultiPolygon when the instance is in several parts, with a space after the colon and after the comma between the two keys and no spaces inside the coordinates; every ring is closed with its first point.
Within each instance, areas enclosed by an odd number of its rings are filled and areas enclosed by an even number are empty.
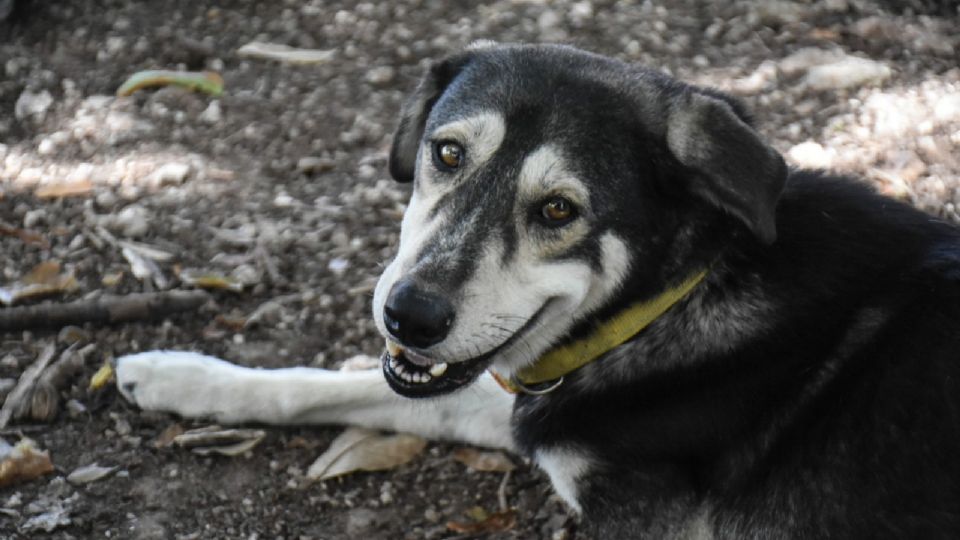
{"type": "Polygon", "coordinates": [[[637,335],[693,290],[706,275],[707,270],[702,270],[660,295],[630,306],[609,321],[601,324],[589,336],[547,351],[536,362],[521,369],[511,379],[507,379],[493,370],[490,370],[490,373],[504,390],[512,394],[518,392],[526,394],[550,392],[560,385],[563,376],[567,373],[589,364],[637,335]],[[531,385],[548,381],[557,382],[542,390],[530,388],[531,385]]]}

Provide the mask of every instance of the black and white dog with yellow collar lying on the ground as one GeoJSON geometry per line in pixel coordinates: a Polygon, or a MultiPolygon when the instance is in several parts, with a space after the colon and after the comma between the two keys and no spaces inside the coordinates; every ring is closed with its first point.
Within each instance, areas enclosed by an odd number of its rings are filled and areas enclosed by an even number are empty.
{"type": "Polygon", "coordinates": [[[382,370],[147,352],[123,395],[520,452],[595,538],[960,537],[956,227],[559,45],[432,64],[389,168],[382,370]]]}

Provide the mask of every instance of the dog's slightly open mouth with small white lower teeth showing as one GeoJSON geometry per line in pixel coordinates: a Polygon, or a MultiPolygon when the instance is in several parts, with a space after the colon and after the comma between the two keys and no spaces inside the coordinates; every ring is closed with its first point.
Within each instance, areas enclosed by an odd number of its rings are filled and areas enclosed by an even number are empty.
{"type": "Polygon", "coordinates": [[[547,307],[557,298],[551,297],[527,322],[506,341],[492,350],[467,360],[442,362],[411,349],[405,349],[387,338],[386,350],[380,358],[383,374],[394,392],[404,397],[421,398],[447,394],[472,383],[491,364],[497,353],[513,345],[534,328],[547,307]]]}

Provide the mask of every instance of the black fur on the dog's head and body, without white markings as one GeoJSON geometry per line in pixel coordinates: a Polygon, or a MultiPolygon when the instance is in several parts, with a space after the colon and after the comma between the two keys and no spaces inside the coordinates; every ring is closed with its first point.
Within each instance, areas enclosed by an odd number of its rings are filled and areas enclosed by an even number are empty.
{"type": "MultiPolygon", "coordinates": [[[[440,66],[405,108],[399,180],[425,129],[494,108],[509,150],[453,214],[508,206],[485,201],[512,201],[498,179],[550,138],[591,185],[594,232],[636,255],[570,339],[710,268],[559,390],[518,398],[523,450],[589,456],[578,499],[596,538],[960,537],[954,226],[850,179],[788,172],[739,104],[656,72],[543,46],[440,66]]],[[[516,234],[504,216],[481,221],[516,234]]],[[[590,240],[564,256],[601,262],[590,240]]],[[[468,272],[424,271],[449,284],[468,272]]]]}

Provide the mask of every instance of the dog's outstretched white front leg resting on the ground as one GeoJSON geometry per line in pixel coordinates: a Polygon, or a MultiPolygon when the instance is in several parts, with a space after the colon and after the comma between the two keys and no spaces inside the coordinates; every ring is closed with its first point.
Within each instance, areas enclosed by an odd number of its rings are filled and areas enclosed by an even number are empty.
{"type": "Polygon", "coordinates": [[[489,375],[448,396],[394,394],[380,370],[254,369],[190,352],[117,360],[117,386],[143,409],[218,422],[351,424],[512,449],[513,396],[489,375]]]}

